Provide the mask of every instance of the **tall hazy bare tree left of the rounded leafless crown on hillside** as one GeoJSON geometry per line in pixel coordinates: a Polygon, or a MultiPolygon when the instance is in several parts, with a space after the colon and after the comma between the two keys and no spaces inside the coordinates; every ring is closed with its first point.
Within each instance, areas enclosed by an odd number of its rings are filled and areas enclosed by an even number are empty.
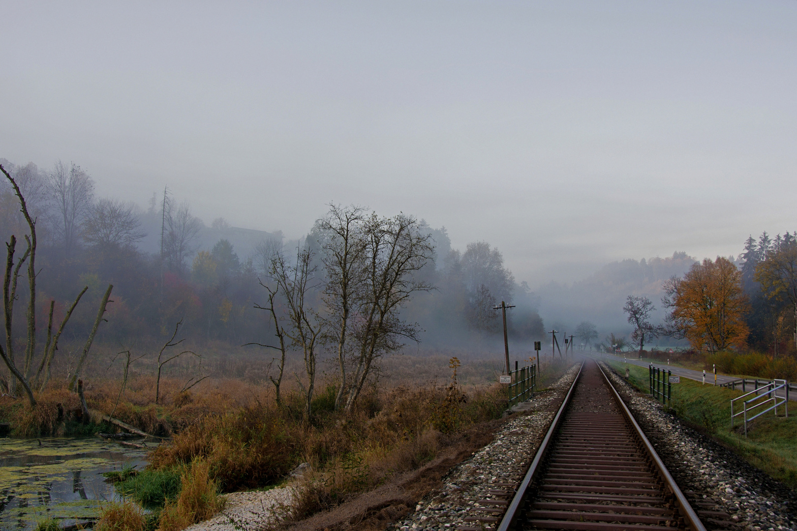
{"type": "Polygon", "coordinates": [[[91,212],[94,182],[74,162],[67,169],[58,161],[49,174],[47,188],[58,215],[53,224],[56,235],[64,246],[65,255],[70,256],[78,243],[81,225],[91,212]]]}

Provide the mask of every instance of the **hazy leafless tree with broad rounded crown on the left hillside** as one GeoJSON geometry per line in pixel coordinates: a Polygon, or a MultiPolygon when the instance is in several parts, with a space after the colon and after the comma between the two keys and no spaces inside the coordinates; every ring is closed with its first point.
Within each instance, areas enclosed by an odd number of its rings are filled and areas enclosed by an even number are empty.
{"type": "Polygon", "coordinates": [[[97,201],[84,223],[84,240],[102,249],[129,247],[144,236],[135,205],[117,199],[97,201]]]}

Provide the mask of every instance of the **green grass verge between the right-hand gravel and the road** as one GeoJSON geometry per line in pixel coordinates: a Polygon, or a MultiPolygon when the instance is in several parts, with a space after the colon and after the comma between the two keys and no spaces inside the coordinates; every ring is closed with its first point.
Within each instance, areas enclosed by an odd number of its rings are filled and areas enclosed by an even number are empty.
{"type": "MultiPolygon", "coordinates": [[[[610,361],[618,373],[625,373],[625,364],[610,361]]],[[[642,392],[648,392],[648,369],[627,364],[629,382],[642,392]]],[[[717,439],[755,467],[779,479],[790,488],[797,488],[797,419],[792,412],[789,418],[775,417],[769,412],[748,423],[748,436],[736,420],[731,428],[731,399],[744,394],[741,391],[682,378],[673,384],[670,410],[699,431],[717,439]]]]}

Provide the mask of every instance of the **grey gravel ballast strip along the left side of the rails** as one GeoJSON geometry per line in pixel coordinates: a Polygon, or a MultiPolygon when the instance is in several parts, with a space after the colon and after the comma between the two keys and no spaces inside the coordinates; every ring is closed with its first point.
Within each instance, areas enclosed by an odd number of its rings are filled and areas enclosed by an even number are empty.
{"type": "MultiPolygon", "coordinates": [[[[496,483],[520,483],[579,365],[568,369],[545,392],[536,393],[530,400],[531,408],[516,413],[515,418],[497,431],[492,443],[446,474],[442,489],[426,495],[410,517],[388,525],[387,529],[436,531],[473,527],[474,523],[466,522],[465,517],[473,516],[469,510],[478,506],[479,500],[492,498],[488,490],[496,488],[496,483]]],[[[485,529],[489,526],[485,525],[485,529]]]]}

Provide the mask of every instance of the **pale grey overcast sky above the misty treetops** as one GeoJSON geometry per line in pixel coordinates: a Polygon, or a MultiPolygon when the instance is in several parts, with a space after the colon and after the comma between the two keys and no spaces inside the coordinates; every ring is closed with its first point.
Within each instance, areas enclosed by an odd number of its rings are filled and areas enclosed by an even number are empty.
{"type": "Polygon", "coordinates": [[[797,2],[2,2],[0,158],[303,235],[330,202],[518,281],[797,229],[797,2]]]}

